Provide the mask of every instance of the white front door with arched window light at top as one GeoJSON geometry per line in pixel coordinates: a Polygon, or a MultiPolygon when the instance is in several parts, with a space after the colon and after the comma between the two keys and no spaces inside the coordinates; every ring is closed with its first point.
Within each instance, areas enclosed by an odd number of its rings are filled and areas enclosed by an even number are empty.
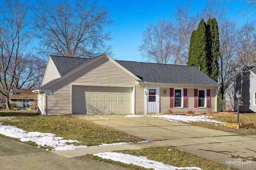
{"type": "Polygon", "coordinates": [[[148,88],[148,113],[157,112],[156,88],[148,88]]]}

